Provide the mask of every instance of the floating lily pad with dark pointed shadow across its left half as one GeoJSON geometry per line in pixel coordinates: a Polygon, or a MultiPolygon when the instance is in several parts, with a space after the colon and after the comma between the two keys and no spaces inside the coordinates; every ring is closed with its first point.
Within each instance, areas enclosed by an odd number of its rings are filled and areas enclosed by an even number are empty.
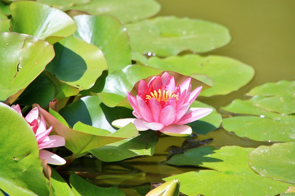
{"type": "Polygon", "coordinates": [[[204,146],[176,154],[165,163],[206,167],[226,174],[255,174],[248,165],[248,154],[253,150],[240,146],[224,146],[220,149],[204,146]]]}

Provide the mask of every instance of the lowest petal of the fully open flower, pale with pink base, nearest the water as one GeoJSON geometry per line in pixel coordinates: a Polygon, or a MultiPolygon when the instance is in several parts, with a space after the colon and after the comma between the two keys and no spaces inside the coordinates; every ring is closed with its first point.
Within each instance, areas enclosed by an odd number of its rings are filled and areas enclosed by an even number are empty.
{"type": "Polygon", "coordinates": [[[165,126],[160,130],[162,133],[170,136],[189,136],[192,133],[192,129],[187,125],[175,125],[171,124],[165,126]]]}

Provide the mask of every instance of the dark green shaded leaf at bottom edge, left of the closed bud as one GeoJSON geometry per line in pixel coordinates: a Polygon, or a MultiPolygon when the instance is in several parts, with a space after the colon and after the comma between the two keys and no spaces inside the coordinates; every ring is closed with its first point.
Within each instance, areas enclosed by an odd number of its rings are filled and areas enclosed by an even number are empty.
{"type": "Polygon", "coordinates": [[[116,195],[124,196],[125,194],[114,187],[98,187],[96,185],[87,182],[75,172],[70,175],[70,185],[75,196],[92,196],[92,195],[116,195]]]}

